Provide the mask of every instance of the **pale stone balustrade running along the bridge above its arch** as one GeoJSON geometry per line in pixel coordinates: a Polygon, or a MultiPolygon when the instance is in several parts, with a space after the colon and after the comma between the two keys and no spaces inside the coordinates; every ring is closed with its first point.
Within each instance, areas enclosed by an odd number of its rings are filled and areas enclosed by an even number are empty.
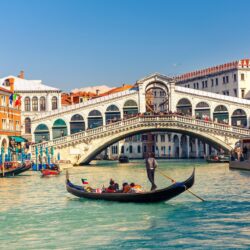
{"type": "Polygon", "coordinates": [[[180,124],[182,125],[186,124],[186,125],[197,126],[197,128],[205,127],[205,128],[214,129],[219,132],[226,131],[226,132],[230,132],[230,133],[237,134],[240,136],[250,136],[250,129],[233,127],[227,124],[214,123],[212,121],[195,119],[189,116],[181,116],[181,115],[176,115],[176,114],[156,115],[156,116],[140,116],[139,115],[133,118],[107,124],[102,127],[97,127],[94,129],[87,129],[85,131],[75,133],[72,135],[68,135],[68,136],[64,136],[61,138],[53,139],[51,141],[34,144],[32,145],[32,151],[35,150],[35,146],[46,148],[46,147],[51,147],[51,146],[64,145],[67,143],[76,142],[77,140],[81,140],[81,139],[86,139],[86,140],[92,139],[93,136],[99,136],[103,133],[109,133],[109,134],[110,132],[116,133],[117,129],[123,130],[131,125],[146,124],[148,122],[154,122],[154,123],[157,123],[158,125],[162,125],[164,122],[169,123],[169,125],[178,123],[177,125],[179,126],[180,124]]]}

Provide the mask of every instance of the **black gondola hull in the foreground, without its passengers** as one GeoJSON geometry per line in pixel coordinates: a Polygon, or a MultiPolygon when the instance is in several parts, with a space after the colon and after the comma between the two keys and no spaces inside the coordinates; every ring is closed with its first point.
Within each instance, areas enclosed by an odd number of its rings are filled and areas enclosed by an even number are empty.
{"type": "Polygon", "coordinates": [[[70,182],[68,173],[66,174],[66,189],[69,193],[87,199],[107,200],[119,202],[160,202],[167,201],[185,192],[194,184],[195,170],[184,182],[176,182],[169,187],[142,193],[94,193],[87,192],[82,186],[74,185],[70,182]]]}

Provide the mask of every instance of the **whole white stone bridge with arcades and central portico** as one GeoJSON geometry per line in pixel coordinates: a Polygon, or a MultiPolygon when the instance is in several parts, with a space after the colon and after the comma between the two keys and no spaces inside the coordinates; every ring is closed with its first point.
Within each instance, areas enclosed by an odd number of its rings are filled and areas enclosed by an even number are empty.
{"type": "Polygon", "coordinates": [[[249,100],[176,86],[172,78],[154,74],[130,90],[37,116],[31,131],[39,147],[53,146],[61,159],[81,164],[122,138],[153,131],[177,132],[231,150],[250,135],[249,120],[249,100]]]}

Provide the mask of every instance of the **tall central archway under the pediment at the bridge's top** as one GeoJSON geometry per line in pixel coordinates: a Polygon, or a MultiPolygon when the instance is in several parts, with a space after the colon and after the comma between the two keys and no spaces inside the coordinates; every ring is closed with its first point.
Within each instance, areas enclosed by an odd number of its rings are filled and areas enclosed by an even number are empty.
{"type": "Polygon", "coordinates": [[[153,113],[169,111],[169,91],[165,84],[154,82],[147,86],[146,111],[153,113]]]}

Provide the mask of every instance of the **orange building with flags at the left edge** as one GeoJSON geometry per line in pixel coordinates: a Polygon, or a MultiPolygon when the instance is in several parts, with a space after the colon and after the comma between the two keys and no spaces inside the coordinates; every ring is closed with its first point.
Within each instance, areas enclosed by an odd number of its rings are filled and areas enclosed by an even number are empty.
{"type": "Polygon", "coordinates": [[[10,141],[21,135],[21,109],[19,100],[13,100],[14,81],[0,87],[0,145],[7,153],[10,141]]]}

